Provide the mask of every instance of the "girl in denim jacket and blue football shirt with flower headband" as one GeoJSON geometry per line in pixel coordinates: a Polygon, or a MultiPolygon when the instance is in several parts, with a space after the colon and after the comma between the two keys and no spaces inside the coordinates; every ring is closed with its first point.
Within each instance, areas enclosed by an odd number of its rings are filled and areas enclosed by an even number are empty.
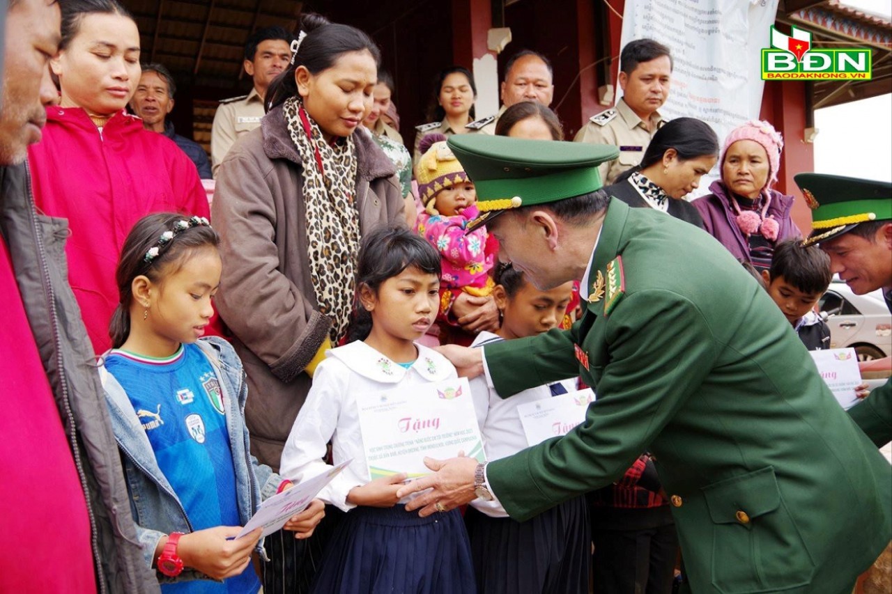
{"type": "MultiPolygon", "coordinates": [[[[266,499],[291,487],[250,455],[242,363],[199,340],[213,316],[219,238],[207,219],[139,220],[121,251],[103,387],[146,563],[164,592],[257,592],[260,529],[235,539],[266,499]]],[[[315,500],[285,528],[307,538],[315,500]]]]}

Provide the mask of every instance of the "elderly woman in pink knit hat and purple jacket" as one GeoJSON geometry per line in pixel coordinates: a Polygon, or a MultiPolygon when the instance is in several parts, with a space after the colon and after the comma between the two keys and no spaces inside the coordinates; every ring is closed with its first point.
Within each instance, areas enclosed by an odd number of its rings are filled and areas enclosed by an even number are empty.
{"type": "Polygon", "coordinates": [[[774,246],[802,234],[790,218],[793,196],[772,189],[783,140],[767,121],[752,120],[725,138],[722,178],[693,202],[706,231],[735,258],[759,270],[771,266],[774,246]]]}

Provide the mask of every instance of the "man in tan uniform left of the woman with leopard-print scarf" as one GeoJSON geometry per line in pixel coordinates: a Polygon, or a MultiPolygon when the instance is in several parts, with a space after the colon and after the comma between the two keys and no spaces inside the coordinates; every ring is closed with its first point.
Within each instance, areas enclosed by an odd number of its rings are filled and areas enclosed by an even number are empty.
{"type": "Polygon", "coordinates": [[[219,103],[211,128],[211,161],[214,177],[223,157],[239,136],[260,126],[266,111],[263,98],[269,83],[291,62],[293,35],[283,27],[258,29],[244,45],[244,71],[253,78],[248,95],[224,99],[219,103]]]}

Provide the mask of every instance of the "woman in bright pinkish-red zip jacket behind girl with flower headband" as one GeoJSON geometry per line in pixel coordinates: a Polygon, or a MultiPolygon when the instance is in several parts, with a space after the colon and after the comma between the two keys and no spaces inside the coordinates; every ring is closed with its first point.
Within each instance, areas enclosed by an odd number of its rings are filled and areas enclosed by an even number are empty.
{"type": "Polygon", "coordinates": [[[195,165],[124,108],[139,83],[139,31],[116,0],[62,3],[62,41],[50,62],[59,105],[46,108],[29,161],[37,208],[68,219],[69,281],[96,353],[111,346],[114,269],[131,227],[160,210],[208,216],[195,165]]]}

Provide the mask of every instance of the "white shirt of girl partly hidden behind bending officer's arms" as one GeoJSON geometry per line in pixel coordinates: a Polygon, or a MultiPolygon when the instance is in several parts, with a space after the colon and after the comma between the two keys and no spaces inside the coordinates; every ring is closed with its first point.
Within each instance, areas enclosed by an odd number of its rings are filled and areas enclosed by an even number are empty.
{"type": "MultiPolygon", "coordinates": [[[[484,342],[497,342],[503,340],[498,334],[481,332],[477,334],[472,347],[484,342]]],[[[524,433],[524,425],[520,421],[517,407],[527,402],[547,400],[551,398],[551,389],[547,385],[537,386],[516,393],[510,398],[501,398],[499,394],[487,385],[486,378],[478,375],[470,381],[471,396],[474,399],[474,408],[477,414],[477,425],[480,425],[480,433],[483,436],[483,451],[487,460],[508,458],[520,450],[529,446],[524,433]]],[[[569,379],[560,382],[567,392],[576,391],[576,380],[569,379]]],[[[491,492],[491,491],[490,491],[491,492]]],[[[499,499],[484,501],[475,499],[471,505],[478,511],[491,517],[508,517],[505,508],[501,507],[499,499]]]]}

